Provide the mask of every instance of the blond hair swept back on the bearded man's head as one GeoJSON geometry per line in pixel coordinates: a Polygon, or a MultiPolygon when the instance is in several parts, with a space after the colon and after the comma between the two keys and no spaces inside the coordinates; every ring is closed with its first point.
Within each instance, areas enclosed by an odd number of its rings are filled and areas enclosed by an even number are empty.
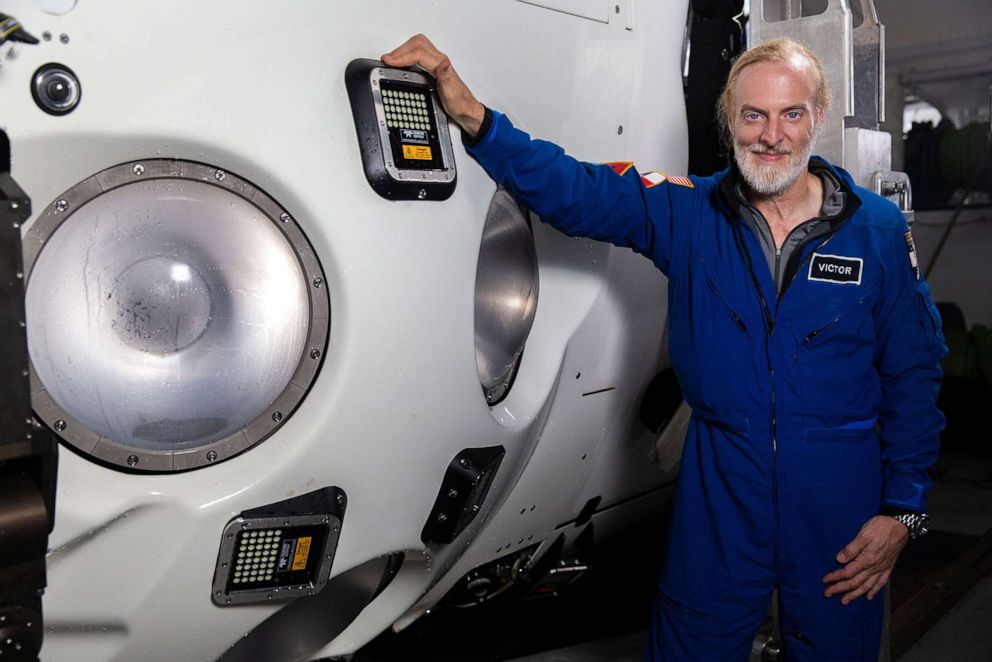
{"type": "Polygon", "coordinates": [[[761,62],[784,62],[793,67],[802,67],[805,64],[813,75],[813,105],[817,118],[821,117],[830,105],[830,87],[823,74],[823,67],[812,51],[798,41],[787,37],[762,42],[744,51],[737,58],[734,66],[730,68],[727,84],[723,87],[723,92],[720,93],[720,98],[717,101],[717,121],[728,144],[732,144],[733,138],[731,134],[733,133],[734,86],[745,67],[761,62]]]}

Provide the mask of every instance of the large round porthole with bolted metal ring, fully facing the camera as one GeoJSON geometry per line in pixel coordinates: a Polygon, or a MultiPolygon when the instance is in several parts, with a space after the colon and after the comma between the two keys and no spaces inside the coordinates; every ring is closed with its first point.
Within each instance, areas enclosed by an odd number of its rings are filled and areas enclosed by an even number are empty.
{"type": "Polygon", "coordinates": [[[84,454],[177,471],[262,441],[326,349],[324,274],[290,214],[211,166],[98,173],[25,237],[32,400],[84,454]]]}

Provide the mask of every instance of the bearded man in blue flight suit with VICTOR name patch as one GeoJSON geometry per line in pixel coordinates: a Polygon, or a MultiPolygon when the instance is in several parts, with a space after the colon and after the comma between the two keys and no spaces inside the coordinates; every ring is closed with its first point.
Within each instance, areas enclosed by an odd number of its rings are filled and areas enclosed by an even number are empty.
{"type": "Polygon", "coordinates": [[[542,220],[669,278],[693,415],[647,657],[747,659],[778,588],[790,660],[876,660],[874,598],[925,524],[946,349],[902,214],[811,157],[816,58],[789,40],[741,56],[718,109],[735,164],[708,178],[531,140],[423,36],[383,61],[432,73],[469,153],[542,220]]]}

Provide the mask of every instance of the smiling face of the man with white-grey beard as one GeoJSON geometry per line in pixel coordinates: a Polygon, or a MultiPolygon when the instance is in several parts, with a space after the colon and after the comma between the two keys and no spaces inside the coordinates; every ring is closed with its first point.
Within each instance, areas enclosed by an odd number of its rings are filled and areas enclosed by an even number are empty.
{"type": "Polygon", "coordinates": [[[783,193],[806,172],[820,120],[805,61],[745,67],[734,88],[734,159],[762,195],[783,193]],[[798,65],[798,66],[796,66],[798,65]]]}

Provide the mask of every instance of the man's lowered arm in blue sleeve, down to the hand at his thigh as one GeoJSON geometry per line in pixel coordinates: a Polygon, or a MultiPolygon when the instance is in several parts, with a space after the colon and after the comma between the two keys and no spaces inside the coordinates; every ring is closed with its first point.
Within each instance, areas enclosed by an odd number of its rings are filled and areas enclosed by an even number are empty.
{"type": "MultiPolygon", "coordinates": [[[[944,417],[937,409],[940,361],[947,353],[940,316],[926,281],[910,264],[907,246],[896,237],[890,270],[876,314],[876,366],[882,380],[882,507],[885,511],[924,513],[937,459],[944,417]]],[[[847,604],[885,586],[909,532],[887,515],[871,518],[837,554],[845,567],[823,578],[827,597],[843,593],[847,604]]]]}

